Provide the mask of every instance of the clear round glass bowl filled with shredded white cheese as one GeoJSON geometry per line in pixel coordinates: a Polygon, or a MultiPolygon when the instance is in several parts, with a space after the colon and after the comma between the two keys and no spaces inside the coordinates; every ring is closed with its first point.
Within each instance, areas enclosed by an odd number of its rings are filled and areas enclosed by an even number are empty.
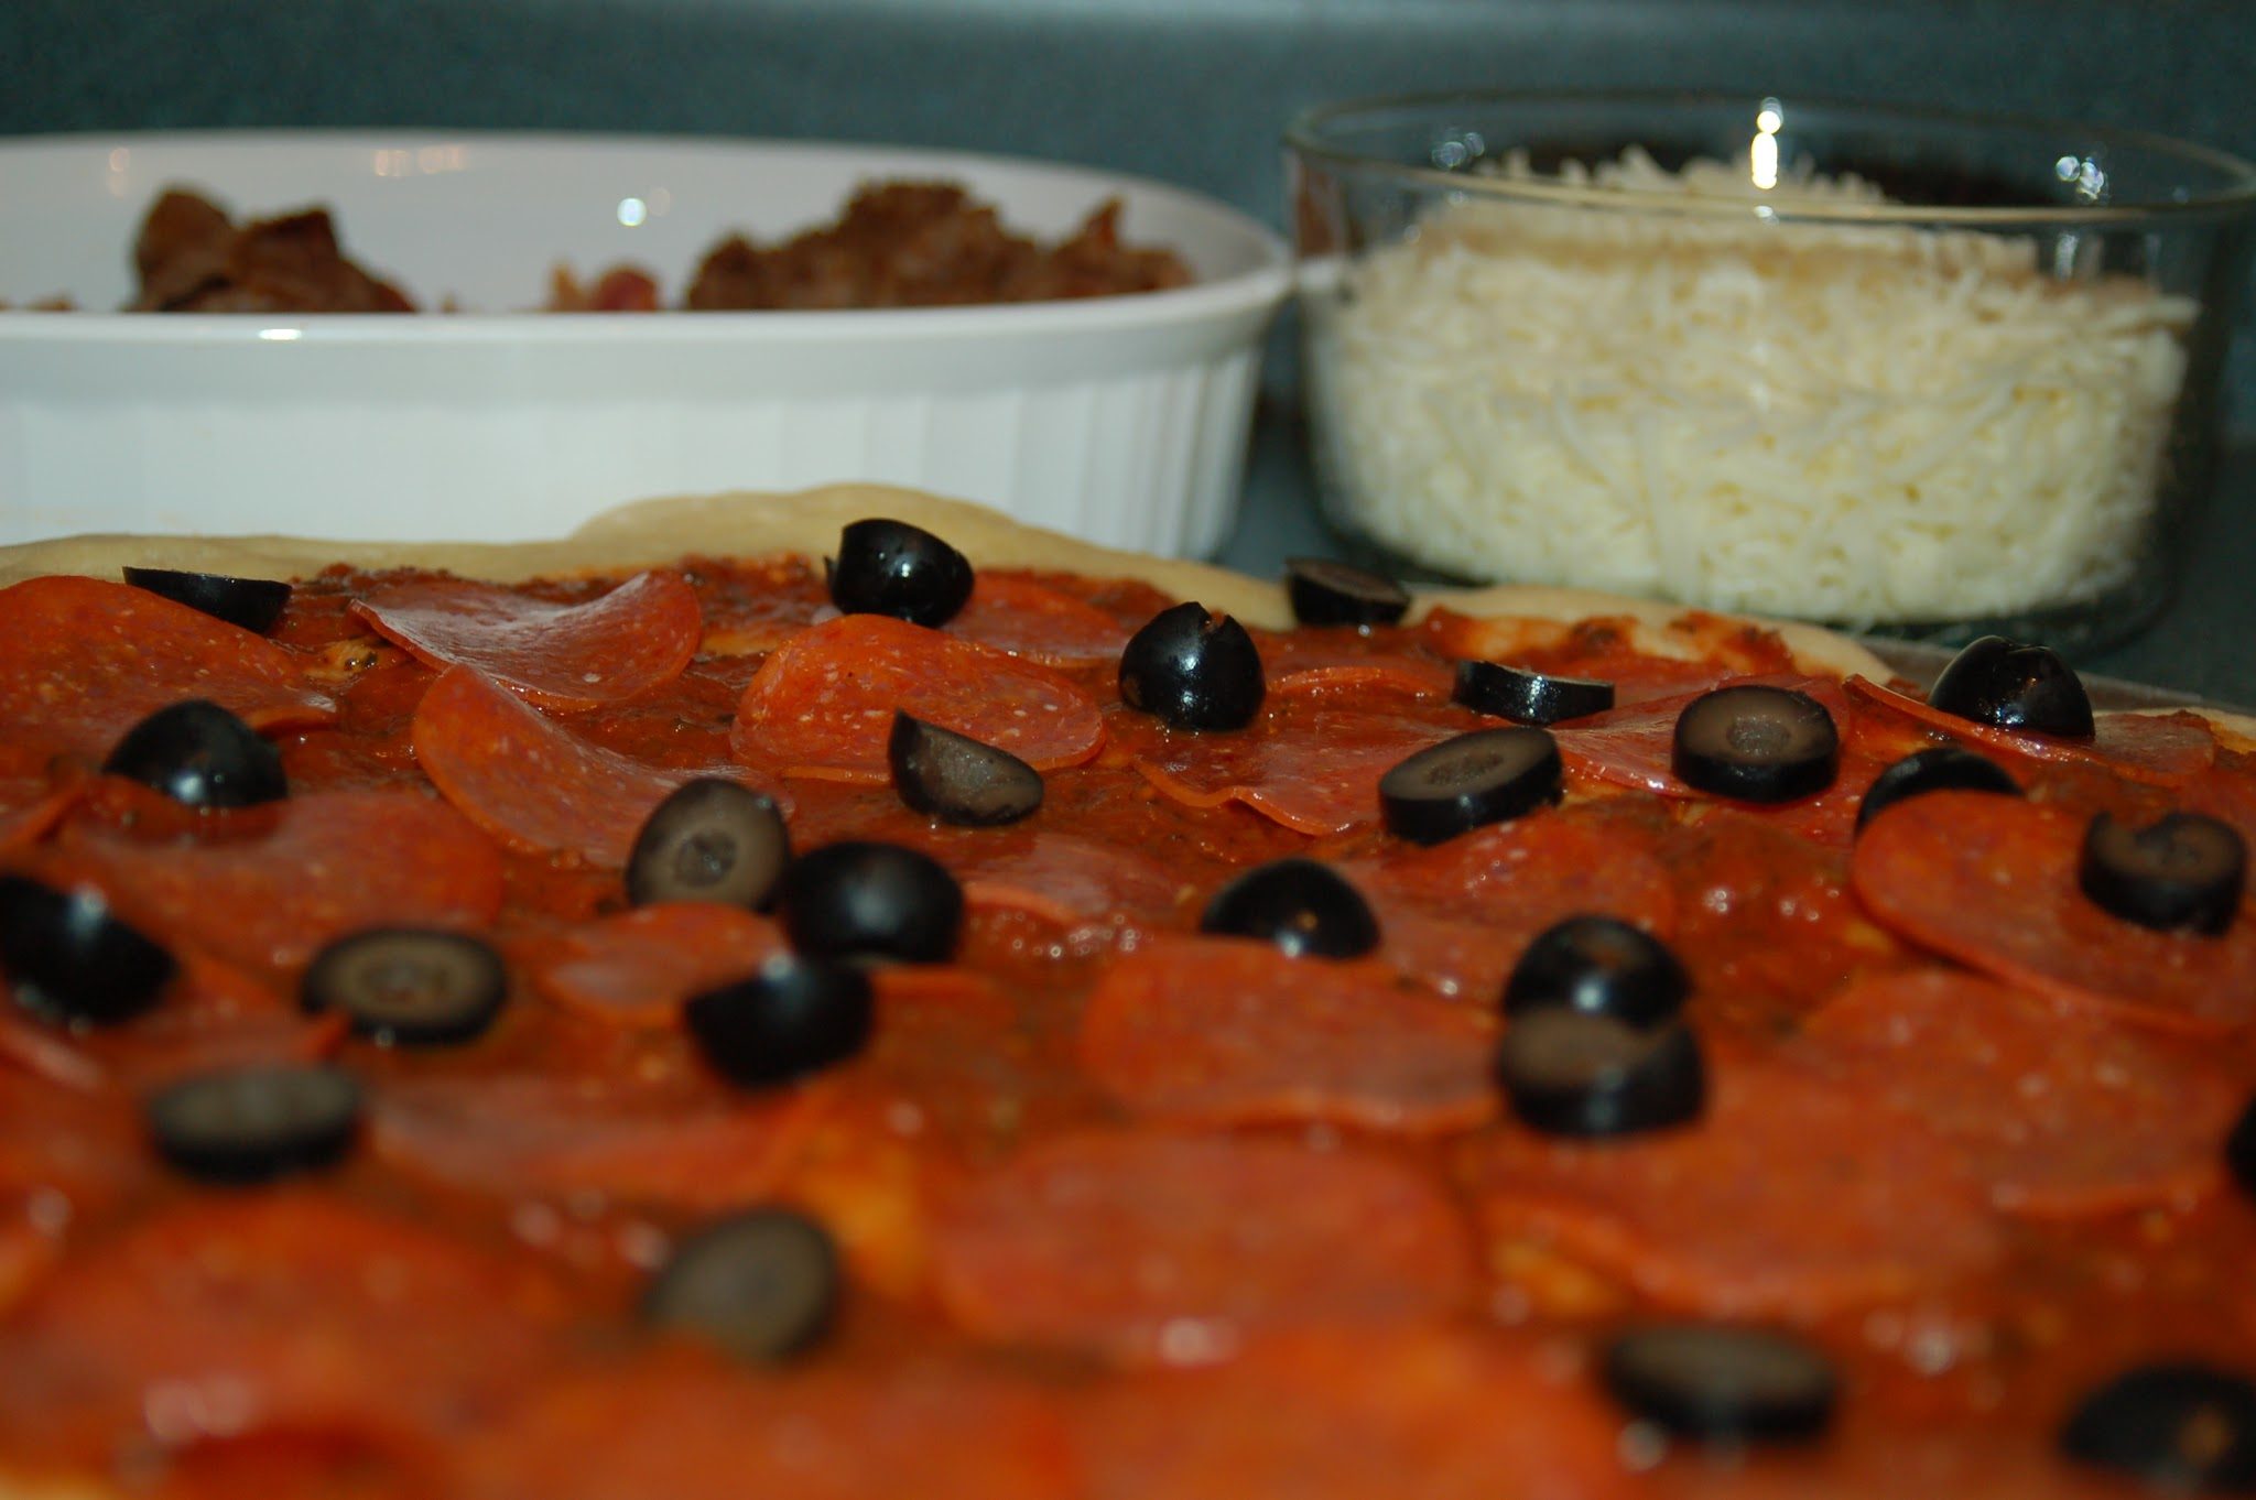
{"type": "Polygon", "coordinates": [[[2209,489],[2256,167],[1778,97],[1286,131],[1327,521],[1396,571],[2091,650],[2209,489]]]}

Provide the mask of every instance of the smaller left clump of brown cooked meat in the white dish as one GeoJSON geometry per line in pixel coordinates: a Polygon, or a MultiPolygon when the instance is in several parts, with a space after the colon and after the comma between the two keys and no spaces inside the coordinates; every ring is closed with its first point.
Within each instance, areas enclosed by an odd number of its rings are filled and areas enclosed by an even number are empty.
{"type": "Polygon", "coordinates": [[[235,228],[192,192],[171,189],[133,246],[140,295],[129,311],[406,314],[415,305],[350,259],[325,210],[235,228]]]}

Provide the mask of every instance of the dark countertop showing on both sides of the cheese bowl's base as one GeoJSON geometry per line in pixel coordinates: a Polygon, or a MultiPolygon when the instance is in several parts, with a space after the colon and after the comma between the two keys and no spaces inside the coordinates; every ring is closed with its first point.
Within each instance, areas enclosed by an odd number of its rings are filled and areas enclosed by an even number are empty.
{"type": "MultiPolygon", "coordinates": [[[[1275,575],[1286,557],[1345,555],[1315,505],[1306,426],[1268,406],[1245,465],[1245,505],[1220,562],[1275,575]]],[[[2080,670],[2256,706],[2256,442],[2224,451],[2209,517],[2168,611],[2143,634],[2076,661],[2080,670]]]]}

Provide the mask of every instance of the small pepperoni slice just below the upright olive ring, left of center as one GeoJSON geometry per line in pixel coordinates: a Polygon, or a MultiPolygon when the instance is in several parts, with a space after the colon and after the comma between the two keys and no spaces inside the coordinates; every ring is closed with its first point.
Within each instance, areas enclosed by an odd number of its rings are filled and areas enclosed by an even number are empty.
{"type": "Polygon", "coordinates": [[[790,950],[783,929],[742,907],[666,902],[582,923],[532,977],[559,1006],[643,1031],[672,1031],[681,1002],[742,979],[790,950]]]}

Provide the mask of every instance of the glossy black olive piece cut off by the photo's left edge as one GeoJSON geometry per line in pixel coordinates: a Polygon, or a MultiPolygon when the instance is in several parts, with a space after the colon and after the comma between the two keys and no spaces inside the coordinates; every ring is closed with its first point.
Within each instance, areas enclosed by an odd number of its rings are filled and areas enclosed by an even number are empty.
{"type": "Polygon", "coordinates": [[[56,1022],[126,1022],[156,1004],[171,954],[111,914],[99,891],[0,875],[0,970],[27,1011],[56,1022]]]}

